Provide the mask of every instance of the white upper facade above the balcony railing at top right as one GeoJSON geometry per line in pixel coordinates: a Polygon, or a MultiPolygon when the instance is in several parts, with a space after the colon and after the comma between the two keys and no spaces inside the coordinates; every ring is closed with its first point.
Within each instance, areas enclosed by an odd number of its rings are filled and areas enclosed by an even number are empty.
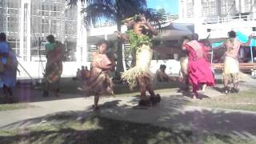
{"type": "Polygon", "coordinates": [[[179,0],[179,18],[254,13],[254,0],[179,0]]]}

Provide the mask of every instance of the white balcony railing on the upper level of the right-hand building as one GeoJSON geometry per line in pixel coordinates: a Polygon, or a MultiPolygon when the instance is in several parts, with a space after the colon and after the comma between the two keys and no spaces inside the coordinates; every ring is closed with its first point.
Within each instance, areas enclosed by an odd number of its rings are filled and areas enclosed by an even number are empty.
{"type": "Polygon", "coordinates": [[[226,16],[226,17],[212,17],[212,18],[205,18],[204,23],[206,24],[218,24],[218,23],[227,23],[227,22],[244,22],[244,21],[255,21],[256,14],[239,14],[234,16],[226,16]]]}

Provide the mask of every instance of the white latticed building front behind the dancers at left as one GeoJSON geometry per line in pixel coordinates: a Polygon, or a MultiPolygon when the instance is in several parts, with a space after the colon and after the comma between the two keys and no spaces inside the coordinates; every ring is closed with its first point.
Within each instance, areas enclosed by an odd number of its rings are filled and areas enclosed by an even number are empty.
{"type": "Polygon", "coordinates": [[[81,9],[81,3],[72,9],[63,0],[0,0],[0,31],[22,62],[45,61],[49,34],[65,44],[67,61],[86,61],[81,9]]]}

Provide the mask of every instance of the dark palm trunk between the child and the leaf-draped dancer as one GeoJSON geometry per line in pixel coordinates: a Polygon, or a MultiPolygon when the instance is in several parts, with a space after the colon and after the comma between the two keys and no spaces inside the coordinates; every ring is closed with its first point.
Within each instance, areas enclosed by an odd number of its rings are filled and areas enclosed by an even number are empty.
{"type": "MultiPolygon", "coordinates": [[[[117,26],[118,26],[118,31],[121,32],[122,22],[118,21],[117,26]]],[[[118,39],[117,55],[118,55],[118,61],[117,61],[116,77],[121,78],[121,73],[124,71],[124,69],[123,69],[123,56],[122,56],[122,40],[121,39],[118,39]]]]}

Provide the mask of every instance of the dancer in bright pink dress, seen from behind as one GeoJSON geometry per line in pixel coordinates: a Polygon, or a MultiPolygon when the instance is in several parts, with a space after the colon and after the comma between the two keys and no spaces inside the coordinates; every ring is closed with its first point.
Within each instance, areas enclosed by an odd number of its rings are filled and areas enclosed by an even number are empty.
{"type": "Polygon", "coordinates": [[[198,98],[200,85],[214,86],[214,77],[209,62],[204,58],[203,44],[198,42],[198,34],[193,34],[192,41],[185,39],[182,49],[188,51],[188,74],[192,84],[192,98],[198,98]]]}

